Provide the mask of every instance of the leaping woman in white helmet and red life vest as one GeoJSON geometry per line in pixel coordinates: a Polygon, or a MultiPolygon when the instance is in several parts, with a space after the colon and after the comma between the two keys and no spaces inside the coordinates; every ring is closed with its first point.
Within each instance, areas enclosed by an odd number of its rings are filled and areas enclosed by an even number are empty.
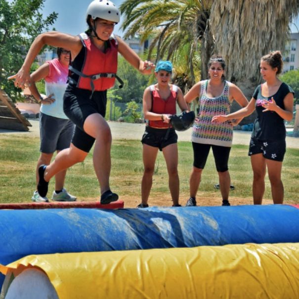
{"type": "MultiPolygon", "coordinates": [[[[48,182],[59,171],[85,160],[94,144],[93,165],[100,184],[101,203],[118,200],[109,185],[111,170],[111,131],[105,121],[107,89],[112,87],[117,71],[117,55],[125,59],[142,74],[150,74],[154,65],[142,61],[119,37],[114,26],[120,20],[118,8],[110,0],[92,1],[86,12],[89,29],[78,36],[60,32],[39,35],[32,43],[23,66],[14,76],[15,86],[30,84],[30,67],[44,45],[71,50],[69,84],[64,94],[64,112],[75,125],[70,148],[62,150],[48,166],[39,168],[39,194],[47,194],[48,182]]],[[[121,80],[119,80],[121,82],[121,80]]]]}

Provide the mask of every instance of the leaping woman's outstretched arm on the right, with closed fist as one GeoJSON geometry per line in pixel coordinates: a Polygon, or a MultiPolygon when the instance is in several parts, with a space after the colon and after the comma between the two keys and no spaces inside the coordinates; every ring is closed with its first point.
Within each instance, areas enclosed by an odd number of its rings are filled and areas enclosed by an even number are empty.
{"type": "Polygon", "coordinates": [[[155,65],[150,61],[143,61],[141,58],[125,43],[120,37],[116,37],[118,41],[118,51],[124,58],[140,73],[150,75],[155,65]]]}

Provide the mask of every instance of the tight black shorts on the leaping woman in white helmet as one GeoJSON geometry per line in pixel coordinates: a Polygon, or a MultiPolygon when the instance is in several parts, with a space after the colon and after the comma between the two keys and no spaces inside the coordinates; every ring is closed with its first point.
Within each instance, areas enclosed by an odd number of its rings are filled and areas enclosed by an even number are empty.
{"type": "Polygon", "coordinates": [[[106,114],[107,90],[91,91],[68,85],[63,97],[63,111],[76,125],[72,143],[79,149],[88,153],[95,139],[85,133],[83,126],[86,118],[94,113],[102,117],[106,114]]]}

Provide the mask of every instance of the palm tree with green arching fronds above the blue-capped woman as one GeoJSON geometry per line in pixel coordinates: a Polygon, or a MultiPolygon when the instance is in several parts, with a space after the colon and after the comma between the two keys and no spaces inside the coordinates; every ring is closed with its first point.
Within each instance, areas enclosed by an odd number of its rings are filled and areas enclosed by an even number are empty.
{"type": "Polygon", "coordinates": [[[205,37],[206,22],[212,0],[126,0],[120,7],[125,21],[125,38],[139,34],[141,42],[151,39],[148,56],[157,48],[155,60],[171,59],[174,63],[185,55],[184,67],[179,63],[178,81],[188,78],[187,89],[199,80],[194,67],[199,45],[205,37]],[[179,70],[182,72],[180,73],[179,70]]]}

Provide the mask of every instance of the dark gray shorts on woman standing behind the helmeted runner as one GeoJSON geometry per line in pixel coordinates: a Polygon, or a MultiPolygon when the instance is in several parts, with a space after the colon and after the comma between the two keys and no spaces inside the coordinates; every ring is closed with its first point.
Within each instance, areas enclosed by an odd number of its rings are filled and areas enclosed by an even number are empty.
{"type": "Polygon", "coordinates": [[[70,147],[74,127],[70,120],[40,113],[40,151],[52,154],[70,147]]]}

